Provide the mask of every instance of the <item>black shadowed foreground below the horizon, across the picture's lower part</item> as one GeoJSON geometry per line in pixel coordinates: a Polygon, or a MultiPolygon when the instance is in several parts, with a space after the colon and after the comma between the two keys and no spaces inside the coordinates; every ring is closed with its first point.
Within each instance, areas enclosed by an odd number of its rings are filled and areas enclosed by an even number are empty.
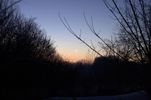
{"type": "Polygon", "coordinates": [[[101,59],[92,65],[40,61],[4,63],[0,67],[1,97],[2,100],[51,100],[53,97],[57,98],[52,100],[62,99],[58,97],[147,100],[144,92],[134,93],[144,89],[143,67],[135,63],[114,62],[101,59]],[[123,95],[129,93],[134,94],[123,95]]]}

